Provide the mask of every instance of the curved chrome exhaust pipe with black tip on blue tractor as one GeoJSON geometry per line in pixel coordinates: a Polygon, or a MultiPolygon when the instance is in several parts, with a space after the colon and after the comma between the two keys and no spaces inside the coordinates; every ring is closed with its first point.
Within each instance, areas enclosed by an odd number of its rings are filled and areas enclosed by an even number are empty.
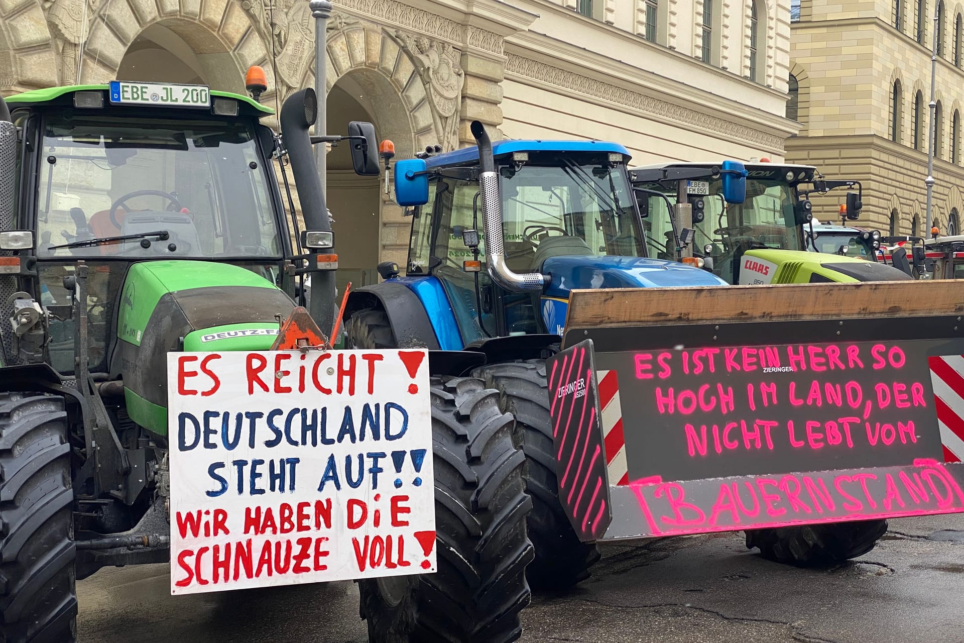
{"type": "Polygon", "coordinates": [[[485,125],[472,121],[469,126],[479,148],[479,191],[482,194],[482,220],[485,228],[485,255],[489,277],[506,290],[542,290],[546,278],[539,273],[514,273],[505,263],[505,237],[502,231],[502,201],[498,196],[498,174],[492,140],[485,125]]]}

